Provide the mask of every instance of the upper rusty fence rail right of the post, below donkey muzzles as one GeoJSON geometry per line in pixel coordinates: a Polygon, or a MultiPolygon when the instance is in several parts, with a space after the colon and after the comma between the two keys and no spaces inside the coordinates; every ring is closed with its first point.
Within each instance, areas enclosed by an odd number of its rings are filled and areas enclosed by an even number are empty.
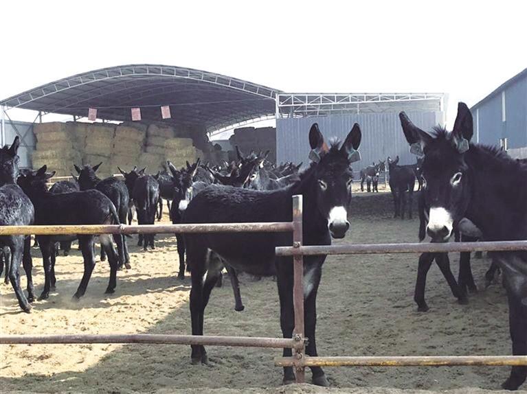
{"type": "Polygon", "coordinates": [[[527,241],[278,246],[276,248],[276,255],[365,255],[388,253],[448,253],[473,251],[527,251],[527,241]]]}

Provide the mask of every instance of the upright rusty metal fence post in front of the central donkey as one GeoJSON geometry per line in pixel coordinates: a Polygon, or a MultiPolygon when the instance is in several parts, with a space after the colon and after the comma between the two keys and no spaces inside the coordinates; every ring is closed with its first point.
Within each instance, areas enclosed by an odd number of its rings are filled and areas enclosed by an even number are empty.
{"type": "MultiPolygon", "coordinates": [[[[293,248],[302,246],[302,196],[293,196],[293,248]]],[[[294,359],[297,383],[305,382],[305,367],[300,365],[304,358],[304,256],[293,256],[293,308],[295,310],[295,328],[293,338],[295,347],[294,359]]]]}

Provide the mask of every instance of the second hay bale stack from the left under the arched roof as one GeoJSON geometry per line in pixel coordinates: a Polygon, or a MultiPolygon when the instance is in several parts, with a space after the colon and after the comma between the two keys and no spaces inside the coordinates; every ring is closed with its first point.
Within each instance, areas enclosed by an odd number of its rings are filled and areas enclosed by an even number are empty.
{"type": "Polygon", "coordinates": [[[96,165],[102,162],[97,172],[98,176],[110,176],[113,174],[111,156],[113,154],[113,137],[115,125],[113,124],[89,124],[86,135],[86,146],[83,164],[96,165]]]}

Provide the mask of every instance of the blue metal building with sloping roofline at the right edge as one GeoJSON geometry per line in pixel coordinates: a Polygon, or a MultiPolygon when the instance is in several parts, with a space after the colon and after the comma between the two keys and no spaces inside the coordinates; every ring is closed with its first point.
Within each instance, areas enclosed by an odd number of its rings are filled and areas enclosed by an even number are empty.
{"type": "Polygon", "coordinates": [[[471,108],[475,141],[510,153],[527,148],[527,69],[471,108]]]}

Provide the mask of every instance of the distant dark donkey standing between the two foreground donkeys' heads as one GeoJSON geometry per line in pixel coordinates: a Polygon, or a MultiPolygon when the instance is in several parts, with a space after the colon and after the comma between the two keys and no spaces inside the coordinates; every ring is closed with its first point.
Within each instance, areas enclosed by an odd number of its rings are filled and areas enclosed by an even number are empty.
{"type": "Polygon", "coordinates": [[[394,218],[405,218],[406,192],[408,192],[408,218],[412,219],[412,197],[416,183],[416,174],[413,165],[398,165],[399,156],[395,160],[388,157],[388,170],[390,171],[390,190],[394,198],[394,218]]]}

